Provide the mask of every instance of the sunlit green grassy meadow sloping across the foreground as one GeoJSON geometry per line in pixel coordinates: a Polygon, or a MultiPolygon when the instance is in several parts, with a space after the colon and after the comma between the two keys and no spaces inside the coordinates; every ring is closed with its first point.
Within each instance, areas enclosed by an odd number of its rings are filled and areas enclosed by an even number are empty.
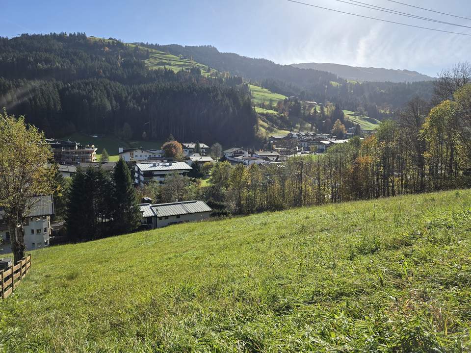
{"type": "MultiPolygon", "coordinates": [[[[183,224],[34,251],[7,352],[471,348],[471,191],[183,224]],[[468,330],[468,331],[466,331],[468,330]]],[[[456,350],[458,352],[458,350],[456,350]]]]}

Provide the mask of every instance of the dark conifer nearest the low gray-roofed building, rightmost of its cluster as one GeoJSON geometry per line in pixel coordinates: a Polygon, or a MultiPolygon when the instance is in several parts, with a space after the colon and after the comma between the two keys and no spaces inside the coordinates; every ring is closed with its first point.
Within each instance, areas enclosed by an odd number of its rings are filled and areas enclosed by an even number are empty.
{"type": "Polygon", "coordinates": [[[131,172],[124,159],[120,158],[113,173],[114,180],[114,228],[116,234],[129,233],[141,220],[139,204],[132,186],[131,172]]]}

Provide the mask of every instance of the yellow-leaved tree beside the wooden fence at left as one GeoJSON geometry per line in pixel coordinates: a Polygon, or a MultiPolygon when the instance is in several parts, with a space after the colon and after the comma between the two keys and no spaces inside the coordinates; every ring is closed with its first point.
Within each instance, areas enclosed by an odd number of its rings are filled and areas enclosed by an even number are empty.
{"type": "Polygon", "coordinates": [[[0,208],[10,231],[15,262],[25,256],[23,225],[36,195],[54,191],[54,168],[48,168],[52,151],[44,133],[25,124],[24,117],[0,112],[0,208]]]}

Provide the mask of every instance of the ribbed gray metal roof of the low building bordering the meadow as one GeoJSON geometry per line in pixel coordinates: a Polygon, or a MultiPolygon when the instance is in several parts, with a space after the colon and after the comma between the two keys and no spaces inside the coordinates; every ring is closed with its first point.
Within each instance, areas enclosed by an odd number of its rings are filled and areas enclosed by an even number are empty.
{"type": "Polygon", "coordinates": [[[191,213],[211,212],[212,208],[203,201],[183,201],[173,203],[141,203],[142,217],[168,217],[191,213]]]}

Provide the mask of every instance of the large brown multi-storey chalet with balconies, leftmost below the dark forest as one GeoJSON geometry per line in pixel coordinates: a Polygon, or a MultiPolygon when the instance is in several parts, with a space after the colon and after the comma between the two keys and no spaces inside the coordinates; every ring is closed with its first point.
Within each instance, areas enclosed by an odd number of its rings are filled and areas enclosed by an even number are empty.
{"type": "Polygon", "coordinates": [[[78,164],[82,162],[96,162],[97,148],[95,146],[82,146],[70,140],[46,140],[54,153],[54,160],[59,164],[78,164]]]}

